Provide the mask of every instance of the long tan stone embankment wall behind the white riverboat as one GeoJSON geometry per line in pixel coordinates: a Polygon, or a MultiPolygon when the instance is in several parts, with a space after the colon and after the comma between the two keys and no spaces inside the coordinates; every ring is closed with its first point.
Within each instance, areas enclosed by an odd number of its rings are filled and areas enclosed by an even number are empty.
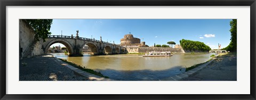
{"type": "Polygon", "coordinates": [[[146,52],[165,52],[172,53],[185,53],[182,48],[169,48],[169,47],[127,47],[129,53],[146,53],[146,52]]]}

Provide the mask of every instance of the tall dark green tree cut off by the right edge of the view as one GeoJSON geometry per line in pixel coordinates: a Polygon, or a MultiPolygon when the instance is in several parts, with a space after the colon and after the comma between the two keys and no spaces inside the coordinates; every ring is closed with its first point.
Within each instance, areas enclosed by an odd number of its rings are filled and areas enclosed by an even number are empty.
{"type": "Polygon", "coordinates": [[[237,20],[236,19],[233,19],[232,21],[230,21],[230,32],[231,32],[231,38],[230,38],[230,43],[227,47],[225,48],[222,48],[222,49],[225,49],[226,51],[236,51],[237,49],[237,29],[236,29],[236,26],[237,26],[237,20]]]}

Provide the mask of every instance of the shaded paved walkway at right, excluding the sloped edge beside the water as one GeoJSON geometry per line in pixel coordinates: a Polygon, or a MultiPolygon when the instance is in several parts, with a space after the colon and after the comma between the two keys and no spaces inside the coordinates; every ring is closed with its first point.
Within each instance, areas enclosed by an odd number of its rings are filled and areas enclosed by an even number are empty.
{"type": "Polygon", "coordinates": [[[236,81],[237,54],[228,53],[215,57],[203,69],[198,70],[181,81],[236,81]]]}

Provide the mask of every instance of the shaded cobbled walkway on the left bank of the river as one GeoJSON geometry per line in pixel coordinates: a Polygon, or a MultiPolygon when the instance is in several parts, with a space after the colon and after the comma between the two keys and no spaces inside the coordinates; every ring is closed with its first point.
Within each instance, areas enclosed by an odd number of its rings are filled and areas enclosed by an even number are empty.
{"type": "Polygon", "coordinates": [[[20,60],[20,81],[85,81],[111,80],[75,68],[52,55],[40,55],[20,60]]]}

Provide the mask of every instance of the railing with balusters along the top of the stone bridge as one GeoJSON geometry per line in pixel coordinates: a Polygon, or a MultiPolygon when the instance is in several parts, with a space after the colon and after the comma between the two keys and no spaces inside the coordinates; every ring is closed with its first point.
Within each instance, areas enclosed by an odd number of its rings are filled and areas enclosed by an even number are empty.
{"type": "MultiPolygon", "coordinates": [[[[76,38],[76,37],[72,37],[72,36],[60,36],[60,35],[49,35],[48,38],[76,38]]],[[[78,39],[82,39],[82,40],[91,40],[91,41],[96,41],[96,42],[101,42],[100,40],[96,40],[96,39],[90,39],[90,38],[83,38],[83,37],[79,37],[78,39]]],[[[109,44],[109,45],[116,45],[116,44],[112,44],[112,43],[108,43],[106,41],[102,41],[102,43],[105,44],[109,44]]],[[[119,46],[119,45],[118,45],[119,46]]]]}

